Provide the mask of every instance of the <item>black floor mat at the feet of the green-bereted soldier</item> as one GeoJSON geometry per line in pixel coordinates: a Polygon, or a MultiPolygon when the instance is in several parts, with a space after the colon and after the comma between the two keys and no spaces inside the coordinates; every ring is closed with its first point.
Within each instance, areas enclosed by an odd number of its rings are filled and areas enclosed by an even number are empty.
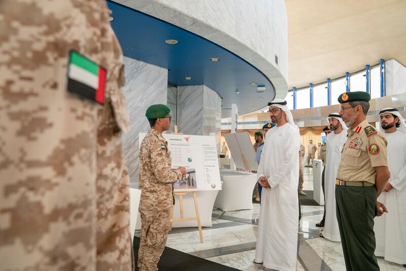
{"type": "MultiPolygon", "coordinates": [[[[134,236],[132,247],[136,265],[138,261],[138,249],[140,247],[140,237],[134,236]]],[[[233,271],[239,270],[206,259],[202,259],[175,249],[165,247],[162,256],[158,262],[159,270],[201,270],[201,271],[233,271]]],[[[138,268],[136,268],[138,270],[138,268]]]]}

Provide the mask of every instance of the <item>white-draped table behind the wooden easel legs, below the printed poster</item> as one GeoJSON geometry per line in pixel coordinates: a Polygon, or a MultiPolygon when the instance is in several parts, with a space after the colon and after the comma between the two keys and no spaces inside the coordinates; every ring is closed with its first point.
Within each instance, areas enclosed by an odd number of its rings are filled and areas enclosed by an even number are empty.
{"type": "MultiPolygon", "coordinates": [[[[197,204],[199,207],[200,213],[200,223],[202,227],[211,227],[212,226],[212,212],[213,205],[216,199],[218,190],[214,191],[198,191],[197,204]]],[[[184,217],[195,217],[196,210],[194,208],[194,201],[192,193],[187,193],[182,196],[183,198],[183,215],[184,217]]],[[[137,212],[138,213],[138,212],[137,212]]],[[[141,219],[140,214],[138,213],[138,220],[136,229],[141,229],[141,219]]],[[[174,217],[180,218],[180,207],[179,207],[179,196],[175,195],[175,206],[174,206],[174,217]]],[[[197,227],[197,221],[179,221],[173,222],[172,228],[180,227],[197,227]]]]}

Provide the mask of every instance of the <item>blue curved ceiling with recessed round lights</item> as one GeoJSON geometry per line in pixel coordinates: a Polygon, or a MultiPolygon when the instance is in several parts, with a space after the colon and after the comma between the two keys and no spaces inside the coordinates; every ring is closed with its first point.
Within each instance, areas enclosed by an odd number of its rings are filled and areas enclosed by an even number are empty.
{"type": "Polygon", "coordinates": [[[230,116],[232,103],[244,114],[263,108],[275,97],[266,76],[223,47],[120,4],[108,1],[108,7],[113,11],[111,25],[125,56],[168,69],[168,82],[174,85],[205,84],[212,88],[223,98],[222,117],[230,116]],[[166,44],[168,39],[179,43],[166,44]],[[213,62],[212,57],[220,60],[213,62]],[[265,91],[257,93],[257,85],[251,82],[265,86],[265,91]]]}

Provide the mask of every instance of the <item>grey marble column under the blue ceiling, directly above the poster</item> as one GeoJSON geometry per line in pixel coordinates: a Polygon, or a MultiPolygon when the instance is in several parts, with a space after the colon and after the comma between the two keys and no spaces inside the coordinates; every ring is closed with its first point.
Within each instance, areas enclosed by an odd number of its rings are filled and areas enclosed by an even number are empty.
{"type": "Polygon", "coordinates": [[[178,86],[178,129],[189,135],[211,135],[220,147],[221,97],[206,85],[178,86]]]}

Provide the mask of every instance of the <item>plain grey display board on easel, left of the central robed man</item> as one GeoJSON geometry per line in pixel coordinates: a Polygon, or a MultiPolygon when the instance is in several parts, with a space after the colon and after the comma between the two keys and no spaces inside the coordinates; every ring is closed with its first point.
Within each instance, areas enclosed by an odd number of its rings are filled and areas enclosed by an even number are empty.
{"type": "Polygon", "coordinates": [[[258,169],[258,163],[255,161],[255,149],[247,132],[225,134],[224,137],[236,167],[246,170],[258,169]],[[249,164],[249,169],[245,167],[243,155],[249,164]]]}

